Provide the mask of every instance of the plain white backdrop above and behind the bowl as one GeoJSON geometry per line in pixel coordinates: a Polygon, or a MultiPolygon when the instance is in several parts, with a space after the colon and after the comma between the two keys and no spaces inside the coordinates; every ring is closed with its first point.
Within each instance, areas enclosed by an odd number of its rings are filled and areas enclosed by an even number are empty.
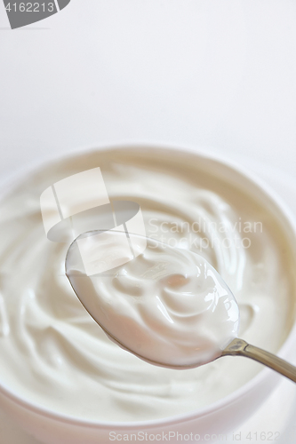
{"type": "MultiPolygon", "coordinates": [[[[1,2],[0,178],[74,149],[165,142],[288,181],[292,202],[295,79],[294,0],[72,0],[13,31],[1,2]]],[[[5,444],[26,444],[12,429],[5,444]]]]}

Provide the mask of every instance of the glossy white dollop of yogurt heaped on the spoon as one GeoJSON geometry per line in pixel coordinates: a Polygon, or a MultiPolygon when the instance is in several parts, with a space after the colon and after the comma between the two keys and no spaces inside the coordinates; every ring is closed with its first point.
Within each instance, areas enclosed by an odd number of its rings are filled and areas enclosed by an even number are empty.
{"type": "MultiPolygon", "coordinates": [[[[108,233],[103,235],[104,250],[112,258],[118,253],[116,244],[108,233]]],[[[66,274],[108,336],[144,361],[176,369],[197,367],[220,357],[237,337],[235,297],[220,274],[192,251],[147,239],[137,257],[87,275],[73,242],[66,274]]]]}

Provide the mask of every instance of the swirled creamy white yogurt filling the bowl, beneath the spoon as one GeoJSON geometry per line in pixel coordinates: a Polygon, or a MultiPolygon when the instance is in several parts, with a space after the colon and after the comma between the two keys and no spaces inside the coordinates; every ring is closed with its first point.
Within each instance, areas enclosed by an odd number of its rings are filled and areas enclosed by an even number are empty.
{"type": "MultiPolygon", "coordinates": [[[[68,245],[46,239],[39,198],[52,183],[96,166],[110,200],[140,204],[148,237],[202,254],[218,271],[239,305],[239,337],[276,353],[291,329],[289,242],[276,217],[239,185],[185,154],[85,154],[31,174],[0,203],[1,383],[39,406],[93,421],[156,419],[220,400],[260,364],[225,357],[188,370],[152,366],[113,344],[71,288],[68,245]]],[[[128,281],[117,283],[124,294],[128,281]]]]}

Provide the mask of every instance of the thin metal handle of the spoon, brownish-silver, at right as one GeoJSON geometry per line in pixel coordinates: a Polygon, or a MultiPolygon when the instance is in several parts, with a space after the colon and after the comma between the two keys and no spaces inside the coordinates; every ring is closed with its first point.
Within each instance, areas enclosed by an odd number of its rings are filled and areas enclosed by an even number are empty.
{"type": "Polygon", "coordinates": [[[246,356],[268,366],[270,369],[276,370],[296,383],[296,367],[278,358],[275,354],[248,344],[243,339],[234,339],[223,351],[222,356],[246,356]]]}

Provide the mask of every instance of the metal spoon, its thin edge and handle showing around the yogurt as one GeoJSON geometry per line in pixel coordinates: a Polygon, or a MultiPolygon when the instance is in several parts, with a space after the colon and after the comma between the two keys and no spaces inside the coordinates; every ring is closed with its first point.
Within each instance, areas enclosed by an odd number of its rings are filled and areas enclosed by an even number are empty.
{"type": "MultiPolygon", "coordinates": [[[[88,233],[84,233],[81,236],[78,236],[77,239],[79,238],[83,238],[85,236],[87,237],[92,237],[92,235],[94,234],[100,234],[100,230],[96,230],[96,231],[92,231],[92,232],[88,232],[88,233]]],[[[124,235],[124,233],[120,232],[120,235],[124,235]]],[[[142,240],[144,239],[143,236],[140,236],[138,234],[135,234],[132,236],[136,236],[137,238],[139,238],[142,242],[142,240]]],[[[72,244],[70,245],[69,249],[68,249],[68,253],[71,249],[73,249],[74,247],[76,247],[76,241],[77,239],[72,242],[72,244]]],[[[154,242],[158,242],[153,240],[154,242]]],[[[162,243],[162,242],[159,242],[162,243]]],[[[172,248],[172,247],[170,247],[172,248]]],[[[72,282],[71,282],[71,274],[68,273],[69,270],[69,264],[68,264],[68,257],[69,254],[67,253],[66,256],[66,260],[65,260],[65,270],[66,270],[66,275],[68,277],[68,280],[73,288],[73,290],[76,293],[76,289],[74,289],[72,282]]],[[[80,258],[81,259],[81,258],[80,258]]],[[[76,296],[78,297],[78,299],[80,300],[80,302],[84,305],[84,302],[82,300],[82,298],[76,293],[76,296]]],[[[96,321],[99,325],[100,328],[103,329],[105,331],[105,333],[107,334],[107,336],[113,341],[115,342],[117,345],[119,345],[121,348],[124,348],[124,350],[138,356],[141,360],[143,361],[147,361],[148,363],[151,363],[153,365],[157,365],[160,367],[167,367],[167,368],[171,368],[171,369],[192,369],[195,367],[198,367],[198,364],[196,365],[190,365],[190,366],[176,366],[176,365],[168,365],[164,362],[160,362],[160,361],[151,361],[149,359],[147,359],[145,356],[140,355],[139,353],[135,353],[134,351],[132,351],[132,349],[128,348],[126,345],[122,344],[120,342],[120,338],[118,337],[114,337],[105,327],[103,327],[100,322],[96,319],[94,313],[91,313],[91,311],[85,307],[84,308],[87,310],[88,313],[91,314],[92,318],[94,319],[94,321],[96,321]]],[[[277,373],[280,373],[281,375],[283,375],[284,377],[287,377],[289,379],[291,379],[293,382],[296,383],[296,367],[294,367],[292,364],[290,364],[287,361],[284,361],[283,359],[277,357],[275,354],[273,353],[268,353],[265,350],[262,350],[256,346],[250,345],[247,342],[245,342],[243,339],[239,339],[239,338],[235,338],[221,353],[220,357],[222,356],[244,356],[246,358],[250,358],[253,361],[258,361],[261,364],[269,367],[270,369],[275,370],[277,373]]]]}

